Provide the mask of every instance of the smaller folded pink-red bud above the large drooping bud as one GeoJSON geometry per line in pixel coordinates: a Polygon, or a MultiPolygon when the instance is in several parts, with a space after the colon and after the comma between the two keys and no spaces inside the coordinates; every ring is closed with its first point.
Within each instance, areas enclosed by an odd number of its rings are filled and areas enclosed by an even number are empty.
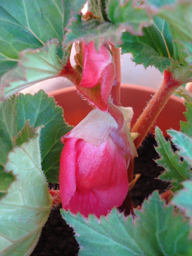
{"type": "Polygon", "coordinates": [[[97,109],[108,112],[108,98],[115,79],[114,59],[109,49],[101,45],[98,52],[94,42],[82,41],[82,78],[77,90],[97,109]]]}

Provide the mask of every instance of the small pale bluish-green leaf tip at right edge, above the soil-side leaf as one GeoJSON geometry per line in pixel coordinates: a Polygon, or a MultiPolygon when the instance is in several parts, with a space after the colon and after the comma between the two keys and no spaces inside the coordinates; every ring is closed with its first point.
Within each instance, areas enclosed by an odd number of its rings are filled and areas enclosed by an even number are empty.
{"type": "Polygon", "coordinates": [[[177,154],[185,159],[192,167],[192,138],[182,132],[168,130],[168,135],[178,149],[177,154]]]}

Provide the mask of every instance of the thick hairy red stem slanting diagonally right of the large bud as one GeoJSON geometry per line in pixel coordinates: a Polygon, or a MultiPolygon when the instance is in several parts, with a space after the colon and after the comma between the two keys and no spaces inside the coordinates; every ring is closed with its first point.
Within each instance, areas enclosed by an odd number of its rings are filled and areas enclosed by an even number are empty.
{"type": "Polygon", "coordinates": [[[137,132],[139,136],[134,140],[136,149],[141,145],[155,119],[167,103],[176,88],[181,85],[179,81],[173,79],[170,71],[164,71],[164,80],[158,88],[153,98],[150,100],[143,113],[135,122],[132,132],[137,132]]]}

